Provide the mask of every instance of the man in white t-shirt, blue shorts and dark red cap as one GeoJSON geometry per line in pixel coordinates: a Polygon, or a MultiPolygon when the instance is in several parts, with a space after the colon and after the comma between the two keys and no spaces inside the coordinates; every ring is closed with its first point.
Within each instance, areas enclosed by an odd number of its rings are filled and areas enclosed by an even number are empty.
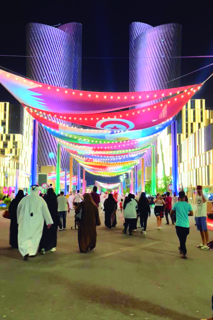
{"type": "Polygon", "coordinates": [[[209,250],[209,247],[207,245],[209,242],[209,232],[206,224],[207,202],[205,197],[203,196],[203,190],[201,186],[197,186],[196,206],[195,221],[197,229],[201,233],[202,239],[202,243],[197,247],[202,250],[209,250]]]}

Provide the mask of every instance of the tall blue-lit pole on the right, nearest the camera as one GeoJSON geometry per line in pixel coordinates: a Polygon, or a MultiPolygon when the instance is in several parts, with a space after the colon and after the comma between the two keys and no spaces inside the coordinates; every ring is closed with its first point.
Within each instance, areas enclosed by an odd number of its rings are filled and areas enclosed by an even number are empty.
{"type": "Polygon", "coordinates": [[[172,140],[172,191],[178,194],[178,159],[177,159],[177,121],[171,123],[171,140],[172,140]]]}

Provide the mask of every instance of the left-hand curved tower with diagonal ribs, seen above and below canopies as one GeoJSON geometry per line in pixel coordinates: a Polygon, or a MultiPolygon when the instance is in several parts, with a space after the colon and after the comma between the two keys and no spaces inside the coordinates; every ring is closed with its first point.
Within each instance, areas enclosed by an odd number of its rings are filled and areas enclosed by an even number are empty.
{"type": "MultiPolygon", "coordinates": [[[[73,22],[55,28],[29,23],[26,34],[27,76],[42,83],[80,90],[82,25],[73,22]]],[[[56,160],[57,141],[39,125],[38,166],[56,165],[56,160]]],[[[69,169],[69,163],[69,153],[61,148],[61,168],[69,169]]],[[[73,173],[77,174],[75,160],[73,173]]]]}

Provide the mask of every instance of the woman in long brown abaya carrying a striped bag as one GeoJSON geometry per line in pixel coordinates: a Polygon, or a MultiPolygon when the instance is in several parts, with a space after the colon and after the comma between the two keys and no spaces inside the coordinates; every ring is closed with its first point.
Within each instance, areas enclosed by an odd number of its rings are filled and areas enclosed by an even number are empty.
{"type": "Polygon", "coordinates": [[[92,196],[85,193],[84,200],[78,204],[75,210],[76,215],[81,219],[78,221],[78,244],[80,252],[88,252],[95,248],[96,245],[96,226],[101,225],[97,205],[94,203],[92,196]]]}

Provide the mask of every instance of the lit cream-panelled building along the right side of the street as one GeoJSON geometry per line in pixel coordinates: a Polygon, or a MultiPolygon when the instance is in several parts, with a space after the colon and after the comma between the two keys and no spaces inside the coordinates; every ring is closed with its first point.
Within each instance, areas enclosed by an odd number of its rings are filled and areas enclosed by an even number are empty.
{"type": "MultiPolygon", "coordinates": [[[[204,99],[192,99],[178,113],[176,120],[179,185],[187,191],[199,184],[212,192],[213,111],[205,108],[204,99]]],[[[158,177],[171,175],[170,127],[163,130],[158,137],[157,154],[158,177]]]]}

